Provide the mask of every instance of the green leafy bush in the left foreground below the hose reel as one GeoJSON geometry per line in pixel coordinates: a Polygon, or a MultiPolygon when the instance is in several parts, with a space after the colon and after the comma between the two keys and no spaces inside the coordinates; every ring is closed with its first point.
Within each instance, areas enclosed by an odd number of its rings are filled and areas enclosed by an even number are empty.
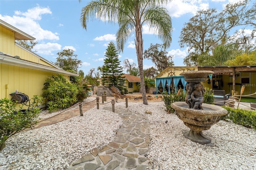
{"type": "Polygon", "coordinates": [[[0,99],[0,150],[5,147],[5,141],[12,135],[36,124],[39,113],[38,108],[19,111],[15,102],[6,98],[0,99]]]}

